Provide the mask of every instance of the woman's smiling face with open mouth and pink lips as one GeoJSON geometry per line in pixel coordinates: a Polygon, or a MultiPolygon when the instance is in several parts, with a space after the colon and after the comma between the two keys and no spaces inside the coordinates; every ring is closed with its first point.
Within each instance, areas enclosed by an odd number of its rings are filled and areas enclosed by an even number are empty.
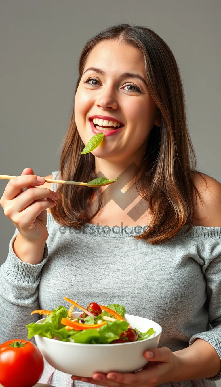
{"type": "Polygon", "coordinates": [[[120,162],[146,149],[154,123],[159,124],[159,110],[145,79],[138,48],[108,40],[91,50],[75,95],[74,113],[85,145],[94,134],[102,131],[105,135],[91,152],[94,156],[120,162]],[[95,124],[99,129],[94,127],[94,116],[101,120],[95,124]],[[118,128],[115,122],[123,123],[123,127],[118,128]],[[108,131],[103,128],[107,125],[108,131]]]}

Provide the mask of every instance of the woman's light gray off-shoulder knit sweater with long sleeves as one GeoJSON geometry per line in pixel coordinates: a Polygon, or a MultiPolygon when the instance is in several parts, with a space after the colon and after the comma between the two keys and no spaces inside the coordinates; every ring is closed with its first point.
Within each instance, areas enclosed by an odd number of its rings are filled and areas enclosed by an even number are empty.
{"type": "MultiPolygon", "coordinates": [[[[59,171],[53,172],[56,177],[59,171]]],[[[56,191],[57,185],[51,189],[56,191]]],[[[161,245],[135,240],[133,235],[143,232],[135,227],[85,224],[76,230],[61,227],[51,214],[47,228],[43,261],[38,265],[15,255],[12,244],[17,229],[10,240],[8,257],[0,267],[0,343],[27,339],[26,325],[39,319],[31,312],[58,305],[68,309],[67,296],[84,307],[92,301],[124,305],[126,313],[162,326],[160,347],[177,351],[199,337],[221,358],[221,227],[194,226],[186,233],[184,226],[173,240],[161,245]]],[[[45,361],[39,382],[56,387],[93,386],[70,377],[45,361]]],[[[161,386],[214,387],[219,379],[221,373],[161,386]]]]}

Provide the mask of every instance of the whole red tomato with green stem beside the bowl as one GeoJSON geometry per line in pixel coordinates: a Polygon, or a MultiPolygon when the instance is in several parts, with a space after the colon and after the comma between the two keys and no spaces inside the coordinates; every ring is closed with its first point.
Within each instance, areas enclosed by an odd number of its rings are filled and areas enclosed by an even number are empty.
{"type": "Polygon", "coordinates": [[[43,370],[43,356],[31,341],[16,339],[0,345],[0,383],[4,387],[32,387],[43,370]]]}

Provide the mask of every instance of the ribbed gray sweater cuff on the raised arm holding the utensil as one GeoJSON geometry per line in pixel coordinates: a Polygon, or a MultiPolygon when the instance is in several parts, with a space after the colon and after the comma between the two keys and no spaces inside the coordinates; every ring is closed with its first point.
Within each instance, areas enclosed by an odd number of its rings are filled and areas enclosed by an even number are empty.
{"type": "Polygon", "coordinates": [[[9,243],[9,253],[6,261],[2,264],[1,270],[8,282],[22,286],[32,286],[38,283],[40,272],[48,259],[48,245],[45,242],[44,255],[41,263],[37,265],[23,262],[13,250],[13,243],[17,235],[13,235],[9,243]]]}

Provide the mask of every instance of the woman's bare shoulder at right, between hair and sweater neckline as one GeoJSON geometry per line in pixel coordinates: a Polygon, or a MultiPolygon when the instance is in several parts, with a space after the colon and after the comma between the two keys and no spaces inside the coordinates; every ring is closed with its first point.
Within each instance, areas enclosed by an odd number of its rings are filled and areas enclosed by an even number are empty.
{"type": "Polygon", "coordinates": [[[197,197],[195,217],[205,217],[202,220],[195,219],[194,225],[221,227],[221,183],[204,173],[201,175],[193,173],[192,180],[202,198],[201,204],[199,197],[197,197]]]}

